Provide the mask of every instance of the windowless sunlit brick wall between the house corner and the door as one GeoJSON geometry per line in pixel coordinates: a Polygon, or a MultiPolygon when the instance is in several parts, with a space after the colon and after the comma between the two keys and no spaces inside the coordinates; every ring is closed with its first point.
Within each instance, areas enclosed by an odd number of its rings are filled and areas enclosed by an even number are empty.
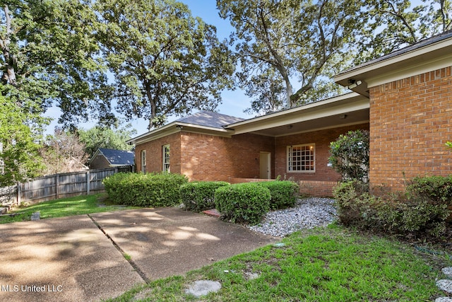
{"type": "Polygon", "coordinates": [[[181,173],[191,180],[258,178],[259,153],[273,152],[273,138],[239,134],[232,138],[182,132],[181,173]]]}

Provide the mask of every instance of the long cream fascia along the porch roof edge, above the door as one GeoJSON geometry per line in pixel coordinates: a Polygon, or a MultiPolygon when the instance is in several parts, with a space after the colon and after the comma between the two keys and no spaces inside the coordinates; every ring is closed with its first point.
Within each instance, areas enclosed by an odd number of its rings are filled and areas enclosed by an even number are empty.
{"type": "Polygon", "coordinates": [[[242,134],[367,108],[369,108],[368,98],[358,93],[348,93],[270,115],[255,117],[244,122],[230,124],[227,128],[234,129],[234,134],[242,134]]]}

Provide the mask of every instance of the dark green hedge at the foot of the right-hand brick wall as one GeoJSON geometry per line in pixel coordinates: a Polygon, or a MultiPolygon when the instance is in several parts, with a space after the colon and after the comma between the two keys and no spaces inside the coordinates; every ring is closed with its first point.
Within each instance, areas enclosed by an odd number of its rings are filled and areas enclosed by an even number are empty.
{"type": "MultiPolygon", "coordinates": [[[[448,182],[451,185],[451,178],[448,182]]],[[[403,236],[411,233],[439,237],[446,231],[451,199],[438,198],[444,187],[432,189],[431,183],[425,178],[415,178],[406,192],[376,197],[369,194],[363,182],[342,182],[333,190],[339,221],[346,226],[403,236]]],[[[382,192],[385,191],[383,188],[382,192]]]]}

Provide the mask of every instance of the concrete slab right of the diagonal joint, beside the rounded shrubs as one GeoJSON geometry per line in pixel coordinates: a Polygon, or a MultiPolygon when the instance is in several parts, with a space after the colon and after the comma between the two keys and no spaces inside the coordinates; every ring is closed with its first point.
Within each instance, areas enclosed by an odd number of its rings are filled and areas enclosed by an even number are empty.
{"type": "Polygon", "coordinates": [[[92,216],[150,280],[184,274],[279,240],[174,207],[92,216]]]}

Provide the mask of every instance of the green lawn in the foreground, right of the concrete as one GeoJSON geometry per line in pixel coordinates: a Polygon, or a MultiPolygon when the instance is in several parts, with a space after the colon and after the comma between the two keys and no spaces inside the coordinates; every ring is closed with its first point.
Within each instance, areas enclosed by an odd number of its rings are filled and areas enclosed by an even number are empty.
{"type": "MultiPolygon", "coordinates": [[[[434,301],[441,272],[410,245],[340,226],[285,238],[253,252],[158,279],[109,301],[434,301]],[[225,272],[227,271],[227,272],[225,272]],[[256,279],[246,276],[258,274],[256,279]],[[218,293],[195,298],[196,280],[220,281],[218,293]]],[[[181,260],[183,261],[183,260],[181,260]]],[[[451,265],[449,255],[444,265],[451,265]]]]}

